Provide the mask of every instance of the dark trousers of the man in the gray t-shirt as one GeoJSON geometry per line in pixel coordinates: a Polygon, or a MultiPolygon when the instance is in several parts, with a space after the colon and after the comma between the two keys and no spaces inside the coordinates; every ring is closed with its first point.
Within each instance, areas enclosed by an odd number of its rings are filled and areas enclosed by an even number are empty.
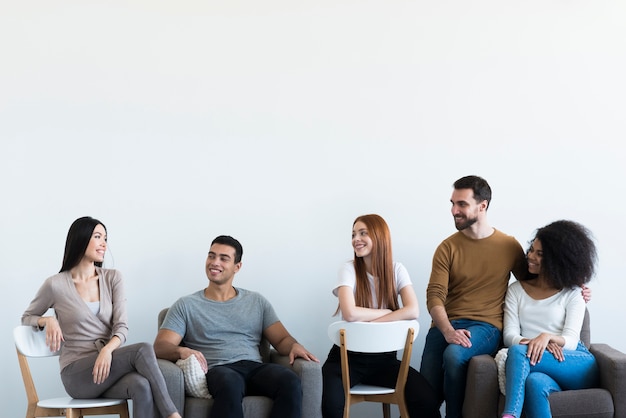
{"type": "Polygon", "coordinates": [[[213,395],[211,418],[243,418],[244,396],[267,396],[274,401],[270,418],[300,418],[302,385],[292,370],[272,363],[238,361],[215,366],[207,373],[213,395]]]}

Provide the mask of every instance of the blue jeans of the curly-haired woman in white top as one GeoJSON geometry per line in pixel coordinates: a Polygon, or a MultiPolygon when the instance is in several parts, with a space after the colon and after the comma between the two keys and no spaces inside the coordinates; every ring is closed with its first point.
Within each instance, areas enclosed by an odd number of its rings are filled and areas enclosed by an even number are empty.
{"type": "Polygon", "coordinates": [[[583,343],[576,350],[563,350],[564,361],[547,351],[541,361],[530,365],[527,345],[509,348],[506,358],[506,402],[504,414],[520,417],[522,408],[532,418],[552,417],[548,397],[552,392],[585,389],[598,384],[600,373],[593,354],[583,343]]]}

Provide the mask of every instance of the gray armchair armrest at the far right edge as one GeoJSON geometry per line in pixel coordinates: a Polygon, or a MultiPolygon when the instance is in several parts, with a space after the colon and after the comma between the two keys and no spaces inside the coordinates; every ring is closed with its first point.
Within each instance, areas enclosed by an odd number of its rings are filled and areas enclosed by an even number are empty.
{"type": "Polygon", "coordinates": [[[600,386],[611,392],[616,417],[626,417],[626,354],[607,344],[589,348],[600,368],[600,386]]]}

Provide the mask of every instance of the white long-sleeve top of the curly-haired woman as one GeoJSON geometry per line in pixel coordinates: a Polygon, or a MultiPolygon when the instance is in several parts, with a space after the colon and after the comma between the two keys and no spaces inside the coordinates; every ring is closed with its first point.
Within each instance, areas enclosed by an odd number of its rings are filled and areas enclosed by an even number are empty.
{"type": "Polygon", "coordinates": [[[581,289],[563,289],[547,299],[533,299],[519,281],[513,282],[504,303],[504,345],[519,344],[522,338],[535,338],[542,332],[560,335],[566,350],[575,350],[585,318],[581,289]]]}

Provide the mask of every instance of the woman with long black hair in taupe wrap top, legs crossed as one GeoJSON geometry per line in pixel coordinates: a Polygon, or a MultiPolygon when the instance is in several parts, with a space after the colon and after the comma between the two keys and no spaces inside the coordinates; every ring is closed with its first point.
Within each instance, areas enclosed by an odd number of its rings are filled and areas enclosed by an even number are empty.
{"type": "Polygon", "coordinates": [[[41,286],[22,324],[46,333],[61,350],[61,380],[74,398],[132,399],[135,418],[180,418],[167,392],[151,344],[126,342],[122,276],[102,268],[107,230],[91,217],[70,227],[61,271],[41,286]],[[43,316],[48,309],[54,316],[43,316]]]}

